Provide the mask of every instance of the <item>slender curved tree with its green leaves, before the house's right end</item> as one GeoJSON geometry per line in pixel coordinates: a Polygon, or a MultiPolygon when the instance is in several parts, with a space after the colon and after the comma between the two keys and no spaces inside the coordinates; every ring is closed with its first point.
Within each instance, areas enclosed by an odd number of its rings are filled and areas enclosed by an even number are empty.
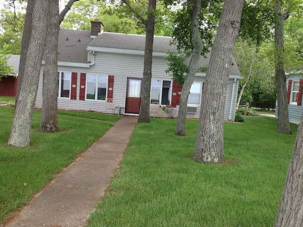
{"type": "Polygon", "coordinates": [[[218,23],[217,9],[221,1],[201,1],[200,10],[193,7],[191,1],[182,3],[176,13],[173,29],[173,43],[180,53],[169,52],[167,73],[172,73],[173,80],[183,84],[179,103],[175,135],[185,135],[185,119],[188,96],[197,71],[205,72],[205,68],[197,69],[201,55],[209,52],[212,38],[218,23]],[[194,12],[194,10],[196,12],[194,12]],[[200,54],[198,54],[200,52],[200,54]],[[185,62],[188,62],[188,66],[185,62]]]}

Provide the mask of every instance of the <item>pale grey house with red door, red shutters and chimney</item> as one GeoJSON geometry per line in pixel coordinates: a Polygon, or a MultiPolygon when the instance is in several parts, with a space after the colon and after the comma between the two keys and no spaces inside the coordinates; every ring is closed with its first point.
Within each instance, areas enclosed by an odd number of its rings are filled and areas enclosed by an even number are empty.
{"type": "MultiPolygon", "coordinates": [[[[155,105],[171,105],[177,109],[181,86],[165,73],[170,37],[154,38],[150,114],[155,105]]],[[[105,98],[112,98],[122,113],[138,115],[144,64],[145,36],[103,32],[100,21],[92,21],[91,31],[60,29],[58,56],[58,109],[105,112],[105,98]]],[[[199,67],[207,66],[201,57],[199,67]]],[[[44,62],[35,107],[42,107],[44,62]]],[[[225,97],[224,120],[234,121],[239,80],[242,79],[233,60],[225,97]]],[[[205,73],[197,73],[188,98],[188,118],[199,118],[205,73]]],[[[158,106],[157,106],[158,107],[158,106]]],[[[116,112],[117,113],[117,112],[116,112]]],[[[166,116],[164,111],[159,116],[166,116]]]]}

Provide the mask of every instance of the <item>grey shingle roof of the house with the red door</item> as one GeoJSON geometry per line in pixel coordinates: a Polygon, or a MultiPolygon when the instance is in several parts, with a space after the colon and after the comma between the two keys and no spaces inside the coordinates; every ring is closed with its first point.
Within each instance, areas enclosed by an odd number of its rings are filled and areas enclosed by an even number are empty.
{"type": "MultiPolygon", "coordinates": [[[[170,46],[171,37],[154,37],[154,52],[166,53],[168,50],[176,52],[176,46],[170,46]]],[[[58,43],[58,61],[87,63],[87,46],[96,48],[113,48],[121,50],[144,51],[145,36],[119,33],[102,33],[96,38],[91,38],[90,31],[60,29],[58,43]],[[67,39],[68,38],[68,39],[67,39]],[[79,42],[80,40],[80,42],[79,42]]],[[[198,68],[209,63],[210,53],[207,58],[201,57],[198,68]]],[[[233,59],[232,75],[241,75],[233,59]]]]}

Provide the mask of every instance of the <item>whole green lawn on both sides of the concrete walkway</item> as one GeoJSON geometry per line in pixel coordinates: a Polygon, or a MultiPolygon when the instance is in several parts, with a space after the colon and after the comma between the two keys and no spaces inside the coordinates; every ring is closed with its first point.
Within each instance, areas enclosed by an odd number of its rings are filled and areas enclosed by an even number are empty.
{"type": "MultiPolygon", "coordinates": [[[[97,140],[117,115],[59,111],[60,133],[39,132],[31,145],[8,147],[14,108],[0,106],[0,222],[97,140]],[[108,118],[109,117],[109,118],[108,118]],[[91,119],[88,119],[91,118],[91,119]],[[100,121],[100,119],[104,121],[100,121]]],[[[245,116],[224,123],[224,164],[193,160],[197,120],[174,136],[176,119],[137,124],[120,171],[97,204],[88,227],[273,226],[296,136],[277,133],[277,119],[245,116]]]]}

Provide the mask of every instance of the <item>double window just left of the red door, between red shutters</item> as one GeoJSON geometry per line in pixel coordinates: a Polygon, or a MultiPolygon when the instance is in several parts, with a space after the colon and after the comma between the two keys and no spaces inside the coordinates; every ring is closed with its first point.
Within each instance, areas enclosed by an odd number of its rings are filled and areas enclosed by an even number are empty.
{"type": "Polygon", "coordinates": [[[107,76],[87,74],[86,99],[105,100],[107,88],[107,76]]]}

